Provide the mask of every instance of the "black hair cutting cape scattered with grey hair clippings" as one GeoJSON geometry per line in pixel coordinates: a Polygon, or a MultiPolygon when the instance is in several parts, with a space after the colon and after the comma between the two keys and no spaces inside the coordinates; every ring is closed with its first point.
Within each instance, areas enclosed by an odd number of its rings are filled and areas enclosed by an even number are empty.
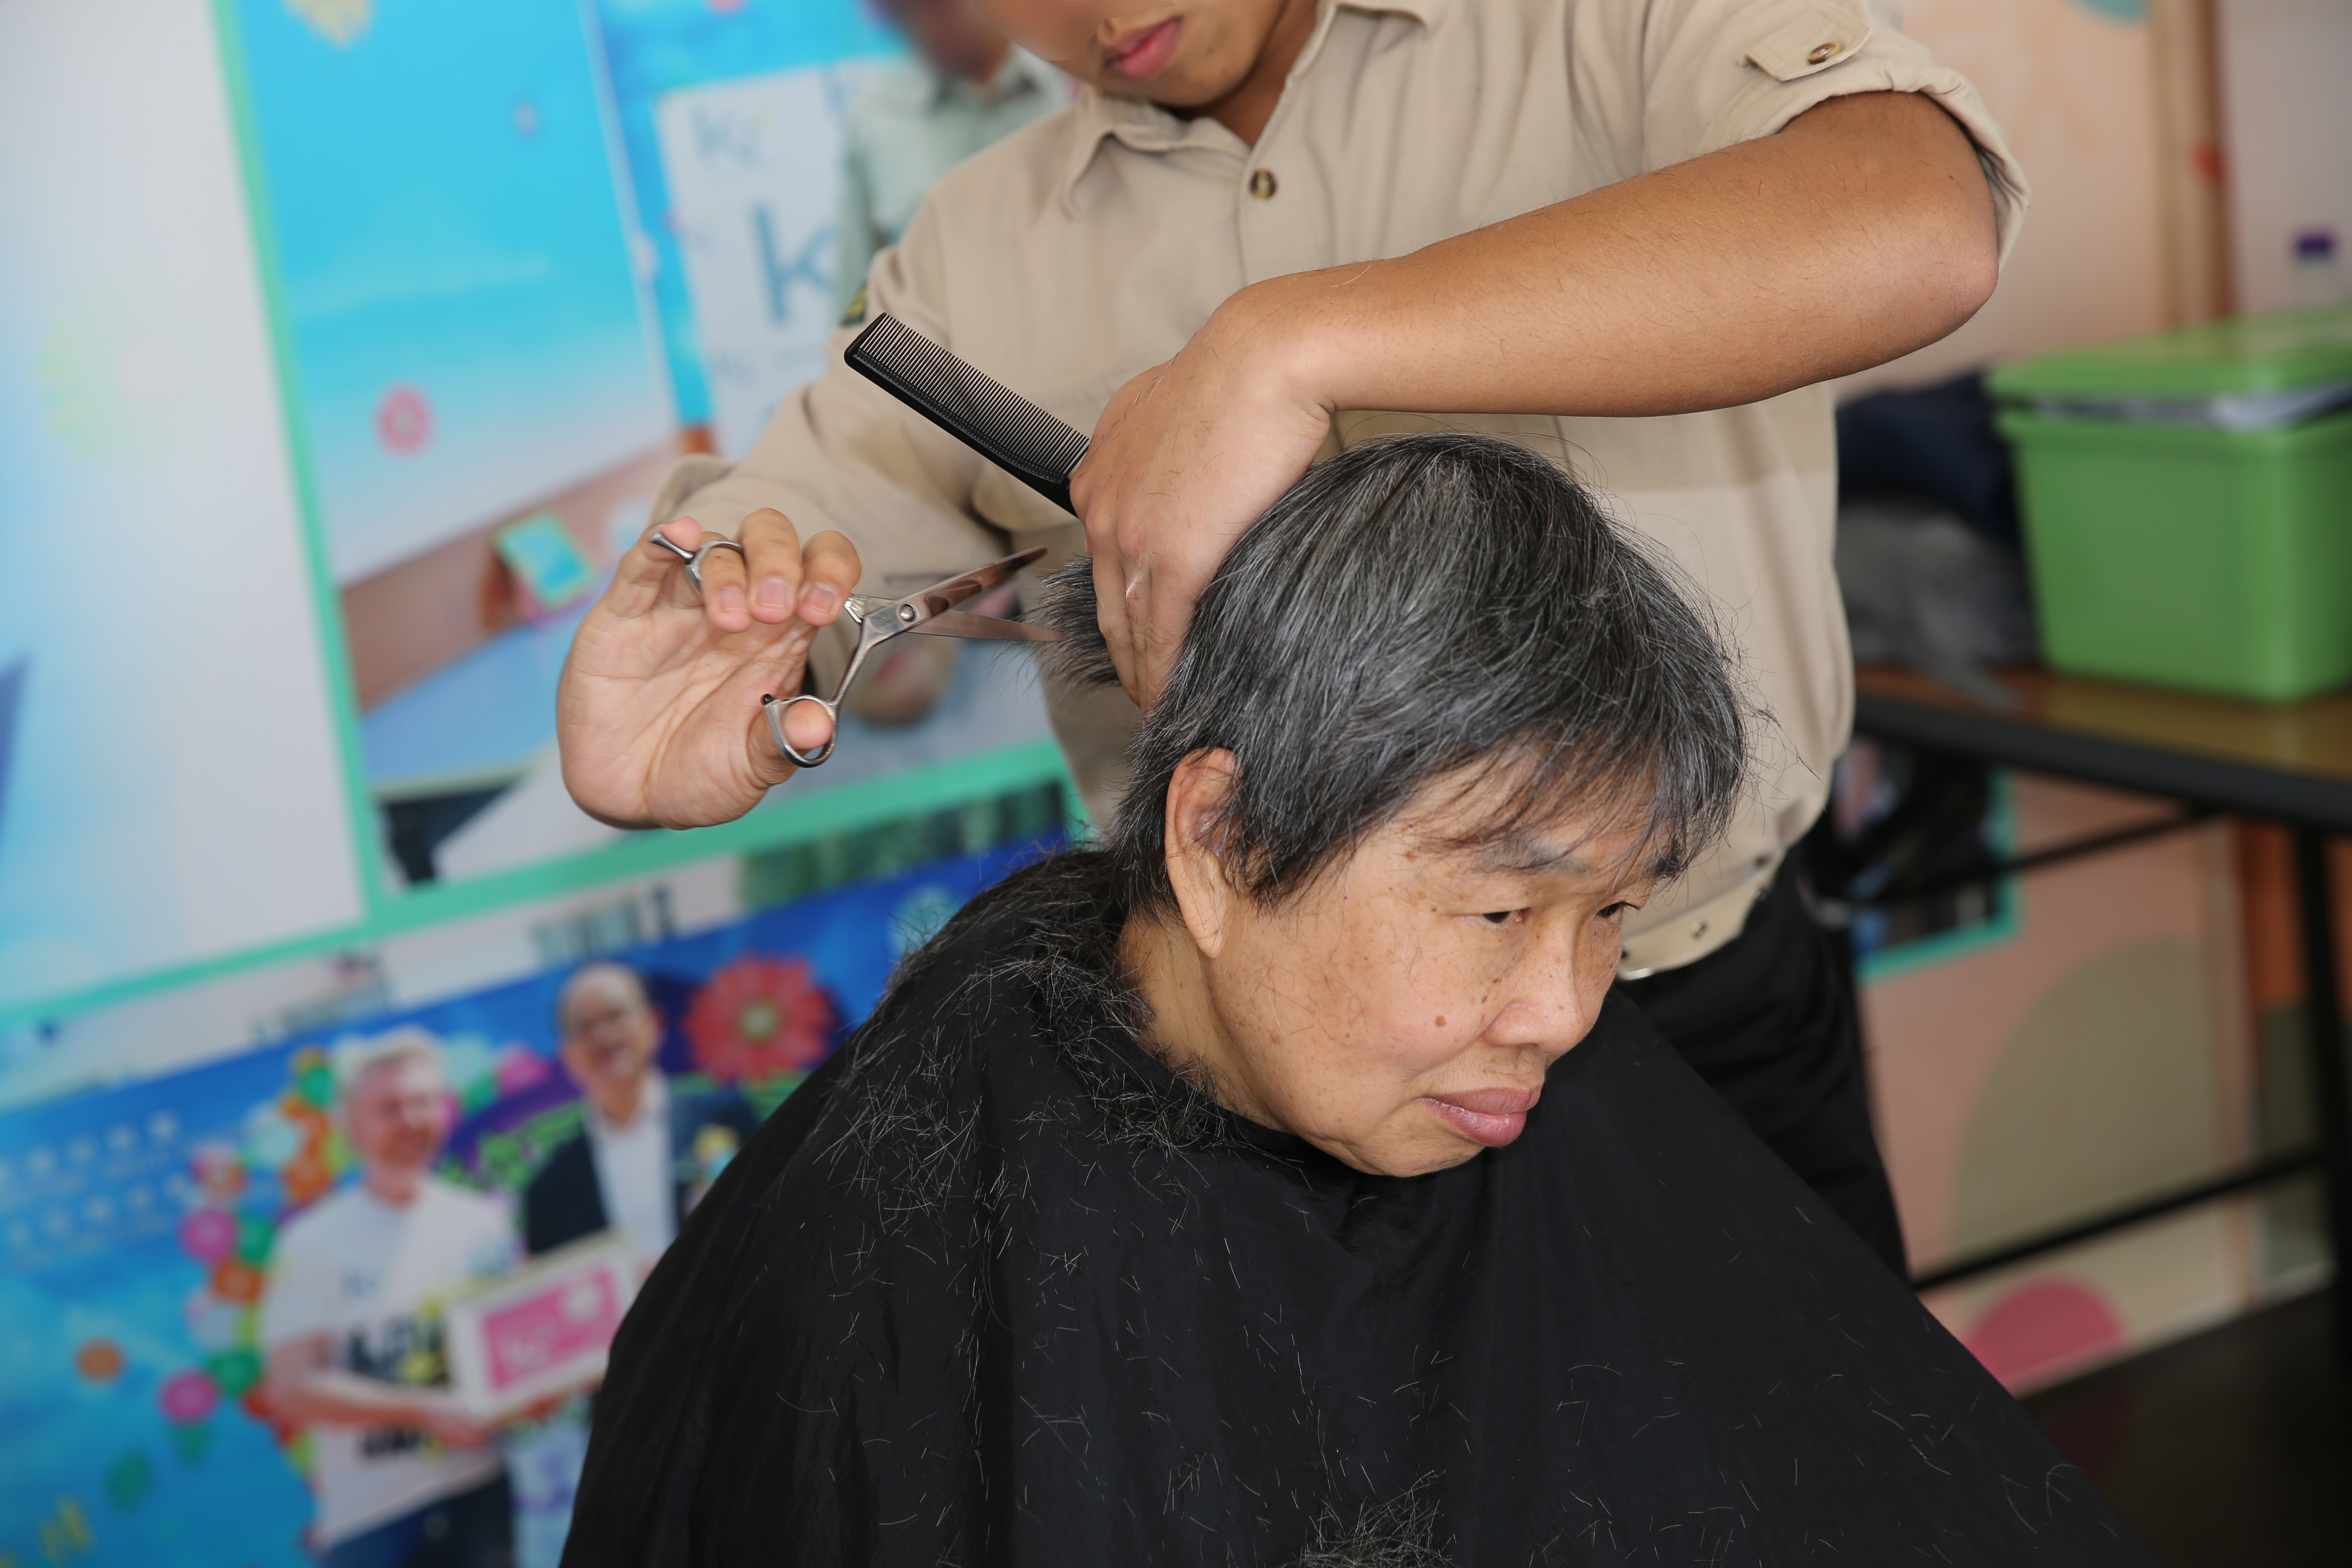
{"type": "Polygon", "coordinates": [[[1014,875],[743,1147],[567,1568],[2154,1561],[1630,1004],[1362,1175],[1134,1041],[1120,919],[1014,875]]]}

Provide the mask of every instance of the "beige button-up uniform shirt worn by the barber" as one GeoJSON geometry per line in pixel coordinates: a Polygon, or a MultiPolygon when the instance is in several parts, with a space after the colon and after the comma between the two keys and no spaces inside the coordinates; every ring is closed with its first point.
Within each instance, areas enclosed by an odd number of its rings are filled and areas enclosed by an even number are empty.
{"type": "MultiPolygon", "coordinates": [[[[1091,430],[1244,284],[1402,256],[1882,89],[1931,94],[1976,139],[2006,256],[2025,179],[1999,127],[1872,0],[1324,0],[1256,148],[1089,89],[941,181],[875,259],[868,310],[1091,430]]],[[[847,371],[842,343],[741,463],[689,458],[661,515],[731,531],[774,505],[802,536],[840,529],[868,592],[1084,548],[1068,515],[847,371]]],[[[1628,973],[1686,964],[1738,931],[1818,816],[1853,717],[1830,393],[1663,418],[1359,414],[1336,437],[1435,423],[1515,433],[1609,491],[1715,597],[1771,710],[1731,835],[1630,924],[1628,973]]],[[[1117,708],[1056,705],[1096,809],[1131,724],[1117,708]]]]}

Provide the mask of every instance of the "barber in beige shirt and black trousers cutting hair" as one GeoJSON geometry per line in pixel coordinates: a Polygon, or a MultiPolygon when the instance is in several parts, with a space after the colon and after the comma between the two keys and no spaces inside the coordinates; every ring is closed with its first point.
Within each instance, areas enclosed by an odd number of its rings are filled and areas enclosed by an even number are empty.
{"type": "MultiPolygon", "coordinates": [[[[1124,686],[1049,691],[1108,818],[1202,585],[1312,461],[1383,430],[1510,435],[1672,552],[1778,719],[1731,830],[1625,924],[1628,994],[1900,1267],[1853,1006],[1780,863],[1853,708],[1823,383],[1969,320],[2025,212],[1976,92],[1884,0],[981,9],[1087,89],[943,179],[858,310],[1091,430],[1082,527],[835,353],[743,461],[687,458],[656,498],[682,545],[746,555],[713,557],[691,635],[590,616],[574,797],[691,825],[779,783],[755,705],[699,703],[837,616],[844,541],[870,592],[1047,545],[1040,571],[1091,552],[1124,686]]],[[[828,632],[826,682],[842,658],[828,632]]]]}

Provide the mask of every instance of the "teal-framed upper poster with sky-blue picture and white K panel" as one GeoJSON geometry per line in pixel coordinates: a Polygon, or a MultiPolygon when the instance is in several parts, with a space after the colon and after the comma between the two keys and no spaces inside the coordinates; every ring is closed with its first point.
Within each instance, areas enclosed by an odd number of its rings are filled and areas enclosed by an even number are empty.
{"type": "MultiPolygon", "coordinates": [[[[856,0],[221,16],[374,903],[612,849],[564,654],[670,463],[821,371],[840,122],[898,45],[856,0]]],[[[1023,658],[866,729],[790,802],[1047,738],[1023,658]]]]}

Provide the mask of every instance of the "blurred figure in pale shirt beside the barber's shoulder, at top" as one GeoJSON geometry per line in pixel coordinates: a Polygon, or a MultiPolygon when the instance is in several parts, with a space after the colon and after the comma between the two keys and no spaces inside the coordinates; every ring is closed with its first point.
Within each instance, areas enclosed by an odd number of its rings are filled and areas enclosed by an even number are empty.
{"type": "Polygon", "coordinates": [[[875,252],[898,242],[941,174],[1070,101],[1063,75],[1014,47],[969,0],[875,2],[915,59],[880,71],[842,120],[833,292],[844,315],[875,252]]]}

